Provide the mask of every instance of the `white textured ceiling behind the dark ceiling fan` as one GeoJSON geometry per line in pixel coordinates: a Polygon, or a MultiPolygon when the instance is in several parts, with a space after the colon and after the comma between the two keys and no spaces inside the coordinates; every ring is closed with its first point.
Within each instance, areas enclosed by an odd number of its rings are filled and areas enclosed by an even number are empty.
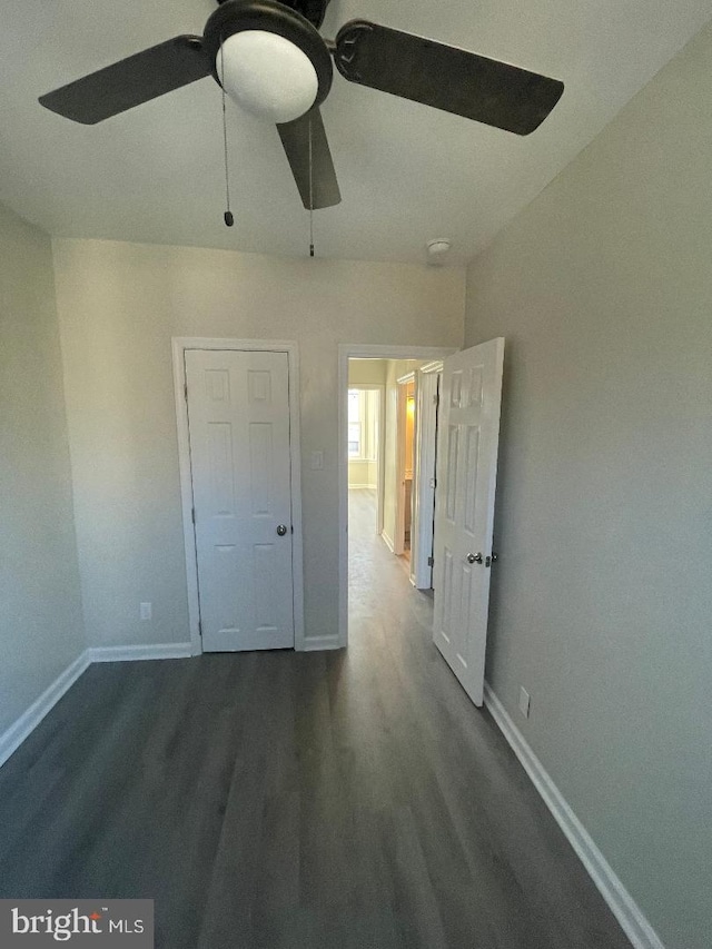
{"type": "MultiPolygon", "coordinates": [[[[37,97],[179,33],[212,0],[2,0],[0,200],[53,235],[305,255],[308,215],[274,126],[229,103],[235,227],[222,224],[221,103],[204,79],[98,126],[37,97]]],[[[711,0],[332,0],[322,29],[370,19],[562,79],[520,138],[335,75],[323,106],[342,204],[315,212],[317,255],[476,254],[710,19],[711,0]]]]}

